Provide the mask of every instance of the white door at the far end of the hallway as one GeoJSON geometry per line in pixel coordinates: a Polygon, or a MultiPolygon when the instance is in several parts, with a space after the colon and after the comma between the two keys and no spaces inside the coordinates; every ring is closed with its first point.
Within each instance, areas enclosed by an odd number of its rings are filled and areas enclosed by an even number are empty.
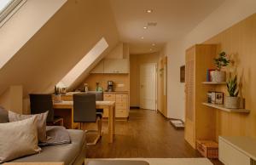
{"type": "Polygon", "coordinates": [[[140,107],[156,110],[156,64],[140,67],[140,107]]]}

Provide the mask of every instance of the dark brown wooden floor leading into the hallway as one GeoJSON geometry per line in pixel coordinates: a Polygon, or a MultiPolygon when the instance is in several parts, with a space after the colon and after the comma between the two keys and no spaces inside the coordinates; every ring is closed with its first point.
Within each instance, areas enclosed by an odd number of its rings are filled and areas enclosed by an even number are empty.
{"type": "Polygon", "coordinates": [[[183,130],[172,128],[166,118],[155,111],[131,110],[127,122],[117,121],[113,144],[108,144],[107,126],[108,122],[103,122],[105,134],[97,145],[88,146],[88,158],[201,157],[184,140],[183,130]]]}

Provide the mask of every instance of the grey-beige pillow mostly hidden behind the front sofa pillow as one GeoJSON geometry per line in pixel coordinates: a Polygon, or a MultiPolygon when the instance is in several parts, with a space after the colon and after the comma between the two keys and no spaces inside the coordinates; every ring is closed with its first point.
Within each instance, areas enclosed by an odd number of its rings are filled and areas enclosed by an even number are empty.
{"type": "Polygon", "coordinates": [[[35,116],[38,118],[38,141],[41,143],[45,143],[47,141],[46,119],[48,116],[48,111],[36,115],[20,115],[13,111],[9,111],[9,122],[16,122],[35,116]]]}

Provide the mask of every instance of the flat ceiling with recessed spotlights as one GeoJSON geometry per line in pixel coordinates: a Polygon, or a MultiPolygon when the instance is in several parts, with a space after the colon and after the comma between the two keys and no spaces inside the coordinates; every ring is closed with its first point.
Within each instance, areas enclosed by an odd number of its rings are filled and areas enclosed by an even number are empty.
{"type": "Polygon", "coordinates": [[[120,40],[131,44],[131,54],[143,54],[158,51],[164,43],[183,37],[224,3],[224,0],[110,0],[110,2],[120,40]],[[148,14],[147,9],[153,9],[153,13],[148,14]],[[157,22],[157,26],[143,29],[148,22],[157,22]],[[156,45],[152,46],[152,43],[156,45]]]}

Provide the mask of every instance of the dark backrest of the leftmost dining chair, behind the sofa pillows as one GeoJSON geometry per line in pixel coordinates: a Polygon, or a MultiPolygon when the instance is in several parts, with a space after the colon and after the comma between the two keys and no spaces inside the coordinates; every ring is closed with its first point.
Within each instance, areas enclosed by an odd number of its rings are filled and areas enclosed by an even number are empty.
{"type": "Polygon", "coordinates": [[[54,122],[54,109],[51,94],[29,94],[31,114],[48,112],[47,122],[54,122]]]}

